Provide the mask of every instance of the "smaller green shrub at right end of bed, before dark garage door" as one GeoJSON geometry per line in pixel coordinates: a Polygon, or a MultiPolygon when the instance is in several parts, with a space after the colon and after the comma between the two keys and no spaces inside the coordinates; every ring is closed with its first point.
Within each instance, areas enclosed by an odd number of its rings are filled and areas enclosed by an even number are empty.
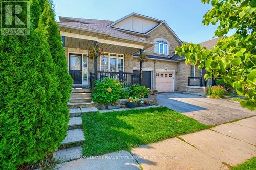
{"type": "Polygon", "coordinates": [[[148,95],[150,95],[151,93],[152,91],[145,86],[141,86],[138,84],[133,84],[130,86],[130,96],[136,98],[147,98],[148,95]]]}

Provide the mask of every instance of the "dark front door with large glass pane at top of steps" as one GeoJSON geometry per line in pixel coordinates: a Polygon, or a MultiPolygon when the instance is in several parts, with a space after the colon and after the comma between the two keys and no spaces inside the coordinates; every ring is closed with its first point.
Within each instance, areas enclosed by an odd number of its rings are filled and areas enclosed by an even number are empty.
{"type": "Polygon", "coordinates": [[[74,84],[82,84],[82,55],[69,54],[69,74],[74,84]]]}

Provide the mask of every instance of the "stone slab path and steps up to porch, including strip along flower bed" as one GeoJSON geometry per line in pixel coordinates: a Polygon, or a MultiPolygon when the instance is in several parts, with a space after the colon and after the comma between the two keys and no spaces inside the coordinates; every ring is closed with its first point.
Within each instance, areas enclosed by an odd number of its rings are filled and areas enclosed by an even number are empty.
{"type": "MultiPolygon", "coordinates": [[[[72,91],[70,102],[68,103],[70,120],[68,131],[65,139],[62,141],[60,148],[53,154],[58,161],[65,162],[78,159],[82,156],[82,143],[86,141],[82,130],[82,114],[98,112],[95,104],[90,101],[91,93],[88,89],[75,88],[72,91]],[[81,107],[83,106],[83,107],[81,107]]],[[[147,109],[159,106],[137,107],[134,109],[147,109]]],[[[121,108],[115,110],[100,110],[100,113],[130,110],[129,108],[121,108]]]]}

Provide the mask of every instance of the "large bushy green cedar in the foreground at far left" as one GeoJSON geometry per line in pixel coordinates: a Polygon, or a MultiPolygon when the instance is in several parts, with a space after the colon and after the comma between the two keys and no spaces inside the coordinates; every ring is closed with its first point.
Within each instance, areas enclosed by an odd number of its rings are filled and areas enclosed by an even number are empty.
{"type": "MultiPolygon", "coordinates": [[[[31,0],[31,16],[38,16],[31,0]]],[[[35,18],[31,21],[36,22],[35,18]]],[[[45,31],[0,36],[0,169],[17,169],[53,152],[65,138],[68,114],[62,112],[56,64],[45,31]]]]}

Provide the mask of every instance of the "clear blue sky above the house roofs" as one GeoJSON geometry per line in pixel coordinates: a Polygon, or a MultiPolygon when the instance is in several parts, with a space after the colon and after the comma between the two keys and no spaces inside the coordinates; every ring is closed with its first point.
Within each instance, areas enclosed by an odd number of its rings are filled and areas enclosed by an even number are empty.
{"type": "Polygon", "coordinates": [[[200,43],[214,37],[217,26],[202,24],[211,4],[200,0],[53,0],[58,16],[116,21],[132,12],[165,20],[185,42],[200,43]]]}

